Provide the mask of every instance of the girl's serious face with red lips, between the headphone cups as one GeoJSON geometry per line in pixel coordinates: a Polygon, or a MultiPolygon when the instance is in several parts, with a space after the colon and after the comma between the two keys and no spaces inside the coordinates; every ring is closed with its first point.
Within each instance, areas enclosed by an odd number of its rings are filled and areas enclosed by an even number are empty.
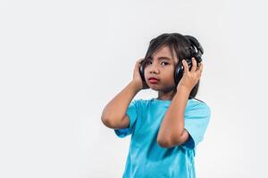
{"type": "MultiPolygon", "coordinates": [[[[175,58],[176,55],[174,54],[173,56],[175,58]]],[[[168,91],[174,89],[174,69],[177,63],[178,59],[172,58],[170,48],[167,45],[163,45],[155,53],[153,53],[152,58],[147,61],[145,67],[147,85],[157,91],[168,91]],[[155,77],[158,81],[156,83],[151,83],[149,81],[150,77],[155,77]]]]}

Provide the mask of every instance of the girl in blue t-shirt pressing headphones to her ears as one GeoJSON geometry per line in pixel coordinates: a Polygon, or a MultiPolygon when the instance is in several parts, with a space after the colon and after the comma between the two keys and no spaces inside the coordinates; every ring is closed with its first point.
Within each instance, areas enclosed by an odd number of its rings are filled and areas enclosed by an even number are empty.
{"type": "Polygon", "coordinates": [[[194,157],[211,111],[195,99],[203,64],[190,38],[172,33],[152,39],[145,59],[136,62],[130,84],[103,110],[104,125],[121,138],[131,134],[124,178],[196,177],[194,157]],[[178,65],[183,69],[179,84],[174,80],[178,65]],[[147,88],[158,97],[132,101],[147,88]]]}

